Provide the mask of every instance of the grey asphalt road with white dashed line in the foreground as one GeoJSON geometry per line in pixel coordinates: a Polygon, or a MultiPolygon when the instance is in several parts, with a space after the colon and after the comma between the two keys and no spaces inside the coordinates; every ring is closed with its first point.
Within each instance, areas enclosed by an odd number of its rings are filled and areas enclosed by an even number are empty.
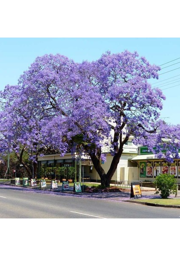
{"type": "Polygon", "coordinates": [[[0,185],[0,218],[180,218],[180,209],[0,185]]]}

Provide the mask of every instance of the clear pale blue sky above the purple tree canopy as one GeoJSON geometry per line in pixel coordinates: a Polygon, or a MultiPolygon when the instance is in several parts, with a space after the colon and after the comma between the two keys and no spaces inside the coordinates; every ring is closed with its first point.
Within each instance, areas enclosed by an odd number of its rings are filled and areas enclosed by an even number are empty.
{"type": "Polygon", "coordinates": [[[125,49],[137,51],[151,64],[171,61],[161,66],[159,80],[150,82],[166,96],[161,117],[172,124],[180,123],[180,38],[0,38],[0,90],[6,84],[17,84],[37,56],[60,53],[81,62],[96,60],[107,50],[115,53],[125,49]]]}

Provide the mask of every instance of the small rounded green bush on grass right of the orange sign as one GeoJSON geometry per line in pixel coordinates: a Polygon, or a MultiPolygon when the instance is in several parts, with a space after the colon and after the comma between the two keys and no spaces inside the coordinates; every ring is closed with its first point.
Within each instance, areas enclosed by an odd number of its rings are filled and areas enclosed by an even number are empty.
{"type": "Polygon", "coordinates": [[[159,194],[163,199],[169,197],[171,193],[175,193],[176,190],[176,180],[173,175],[170,174],[160,174],[155,179],[155,185],[157,186],[158,190],[156,194],[159,194]]]}

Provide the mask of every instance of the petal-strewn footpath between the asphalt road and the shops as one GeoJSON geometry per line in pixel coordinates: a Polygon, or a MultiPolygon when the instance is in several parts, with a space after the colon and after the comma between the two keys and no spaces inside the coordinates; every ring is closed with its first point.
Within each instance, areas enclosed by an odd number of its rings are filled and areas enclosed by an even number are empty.
{"type": "MultiPolygon", "coordinates": [[[[69,190],[65,191],[62,190],[62,186],[58,186],[56,189],[51,189],[50,185],[47,185],[45,188],[40,188],[39,186],[23,186],[23,185],[15,185],[11,184],[9,181],[0,181],[0,184],[2,186],[14,186],[14,189],[25,189],[25,190],[31,190],[31,191],[38,191],[38,192],[46,192],[46,193],[58,193],[59,195],[69,195],[69,196],[77,196],[77,197],[83,197],[83,198],[96,198],[96,199],[104,199],[104,200],[114,200],[114,201],[124,201],[124,202],[130,202],[134,204],[145,204],[149,206],[155,206],[155,207],[171,207],[171,208],[180,208],[180,205],[163,205],[163,204],[154,204],[150,202],[141,202],[141,199],[158,199],[160,198],[160,195],[156,195],[155,188],[149,188],[149,187],[143,187],[141,188],[141,195],[142,198],[130,198],[130,189],[129,191],[121,191],[121,192],[74,192],[73,186],[69,186],[69,190]]],[[[113,185],[113,184],[112,184],[113,185]]],[[[175,197],[175,194],[171,194],[169,196],[169,199],[180,199],[180,190],[177,192],[177,197],[175,197]]],[[[173,203],[173,200],[172,200],[173,203]]]]}

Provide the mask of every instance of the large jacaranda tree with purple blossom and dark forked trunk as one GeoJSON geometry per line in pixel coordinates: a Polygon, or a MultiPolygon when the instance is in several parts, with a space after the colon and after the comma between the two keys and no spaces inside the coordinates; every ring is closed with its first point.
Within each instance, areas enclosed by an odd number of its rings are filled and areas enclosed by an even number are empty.
{"type": "MultiPolygon", "coordinates": [[[[89,155],[105,186],[110,185],[130,136],[161,157],[166,149],[164,157],[172,161],[180,148],[179,127],[159,119],[165,96],[148,82],[158,79],[159,70],[128,51],[106,52],[97,61],[82,63],[59,54],[38,57],[18,86],[8,89],[10,99],[2,97],[9,101],[8,113],[13,113],[4,149],[12,146],[14,130],[20,138],[15,147],[25,145],[31,152],[53,147],[64,155],[71,144],[72,151],[89,155]],[[107,173],[101,165],[104,147],[113,156],[107,173]]],[[[2,115],[7,118],[6,111],[4,107],[2,115]]],[[[6,118],[1,118],[2,127],[6,118]]]]}

